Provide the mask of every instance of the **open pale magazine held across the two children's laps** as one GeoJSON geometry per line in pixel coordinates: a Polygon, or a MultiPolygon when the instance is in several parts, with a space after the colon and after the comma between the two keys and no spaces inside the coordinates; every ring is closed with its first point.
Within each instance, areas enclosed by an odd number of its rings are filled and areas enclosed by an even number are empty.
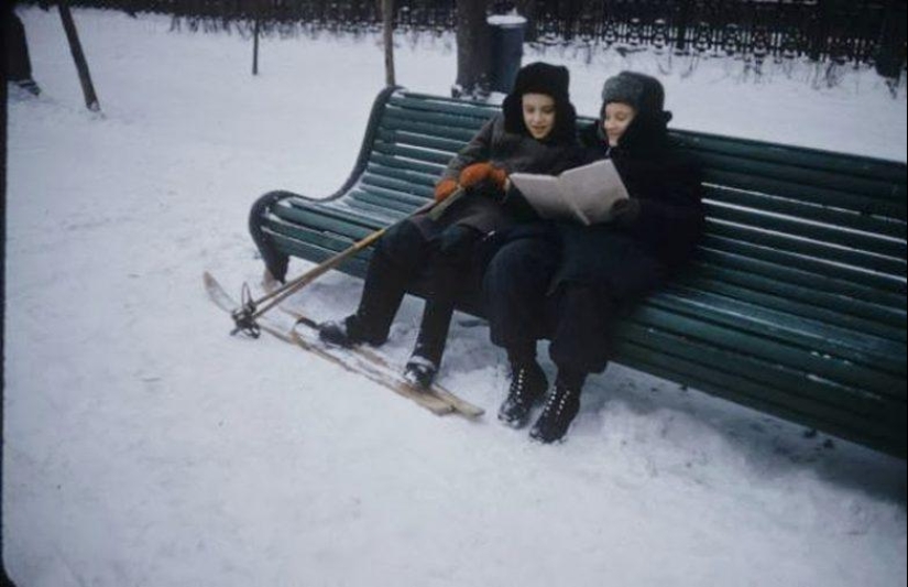
{"type": "Polygon", "coordinates": [[[576,219],[587,226],[610,220],[615,202],[628,197],[608,159],[560,175],[512,173],[510,177],[543,218],[576,219]]]}

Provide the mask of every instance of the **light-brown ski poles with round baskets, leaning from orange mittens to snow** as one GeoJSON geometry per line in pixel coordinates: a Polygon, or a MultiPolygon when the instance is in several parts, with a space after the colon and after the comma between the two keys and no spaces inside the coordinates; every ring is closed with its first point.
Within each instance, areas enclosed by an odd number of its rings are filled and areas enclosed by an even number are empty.
{"type": "MultiPolygon", "coordinates": [[[[441,214],[444,214],[444,211],[451,204],[455,203],[455,200],[459,199],[463,195],[463,193],[464,189],[462,187],[458,187],[455,191],[455,193],[447,197],[445,200],[439,203],[428,202],[425,205],[417,208],[416,210],[414,210],[412,214],[409,214],[406,218],[404,218],[404,220],[413,218],[414,216],[423,214],[425,211],[429,211],[429,216],[434,220],[437,220],[441,216],[441,214]]],[[[398,222],[401,221],[403,220],[400,220],[398,222]]],[[[295,280],[282,285],[273,292],[266,293],[259,300],[252,300],[252,296],[249,292],[249,287],[244,286],[242,293],[242,306],[240,308],[237,308],[232,313],[233,322],[237,324],[237,328],[233,330],[233,333],[240,330],[253,331],[255,329],[255,318],[258,318],[265,312],[269,312],[274,306],[283,302],[294,293],[298,292],[306,285],[310,284],[328,271],[335,269],[343,261],[346,261],[348,258],[360,252],[361,250],[365,249],[367,247],[382,238],[385,232],[387,232],[392,227],[396,226],[398,222],[395,222],[389,227],[372,232],[365,238],[354,242],[352,246],[350,246],[350,248],[338,252],[337,254],[330,257],[329,259],[322,261],[320,264],[314,267],[309,271],[299,275],[295,280]],[[262,307],[259,307],[260,304],[263,304],[265,302],[267,302],[267,304],[263,305],[262,307]]]]}

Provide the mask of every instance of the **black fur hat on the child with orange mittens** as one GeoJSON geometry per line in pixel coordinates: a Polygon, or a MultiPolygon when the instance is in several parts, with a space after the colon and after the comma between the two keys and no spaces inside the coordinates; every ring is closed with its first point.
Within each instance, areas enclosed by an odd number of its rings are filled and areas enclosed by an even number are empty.
{"type": "MultiPolygon", "coordinates": [[[[545,94],[555,99],[555,129],[553,141],[571,141],[577,124],[577,110],[570,102],[568,86],[570,72],[567,67],[536,62],[521,67],[514,80],[514,89],[504,99],[504,129],[507,132],[529,134],[523,118],[523,95],[545,94]]],[[[548,140],[548,139],[547,139],[548,140]]]]}

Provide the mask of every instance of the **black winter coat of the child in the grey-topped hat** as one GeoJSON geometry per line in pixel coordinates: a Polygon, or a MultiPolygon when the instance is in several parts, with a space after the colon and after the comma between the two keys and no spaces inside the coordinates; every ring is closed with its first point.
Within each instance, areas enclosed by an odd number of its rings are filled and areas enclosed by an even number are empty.
{"type": "Polygon", "coordinates": [[[584,227],[559,222],[564,282],[601,285],[619,301],[645,294],[690,256],[703,226],[700,174],[668,139],[663,117],[637,117],[609,148],[600,122],[581,132],[584,162],[611,157],[636,214],[584,227]]]}

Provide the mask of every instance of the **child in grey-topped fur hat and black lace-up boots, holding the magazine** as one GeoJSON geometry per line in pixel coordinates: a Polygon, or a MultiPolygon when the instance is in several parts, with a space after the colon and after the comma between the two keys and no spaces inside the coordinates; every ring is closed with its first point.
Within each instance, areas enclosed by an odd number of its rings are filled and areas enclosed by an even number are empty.
{"type": "Polygon", "coordinates": [[[624,72],[602,90],[600,118],[581,132],[581,162],[612,159],[630,194],[612,220],[522,230],[495,254],[483,295],[492,341],[507,350],[512,381],[499,418],[526,424],[548,382],[536,341],[551,340],[554,390],[530,436],[567,433],[590,373],[605,369],[619,311],[661,284],[690,254],[702,228],[697,167],[671,148],[661,84],[624,72]]]}

